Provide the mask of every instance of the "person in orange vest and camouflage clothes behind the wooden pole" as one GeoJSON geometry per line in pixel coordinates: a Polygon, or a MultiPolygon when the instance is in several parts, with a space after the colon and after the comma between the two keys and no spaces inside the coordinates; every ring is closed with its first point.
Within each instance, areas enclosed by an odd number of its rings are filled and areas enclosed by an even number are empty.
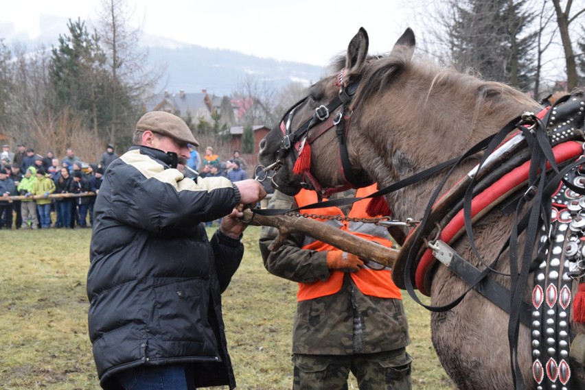
{"type": "MultiPolygon", "coordinates": [[[[376,184],[332,195],[364,197],[376,184]]],[[[295,208],[318,202],[316,192],[295,197],[275,191],[268,208],[295,208]]],[[[367,218],[369,199],[342,208],[315,208],[303,213],[367,218]]],[[[380,245],[391,246],[387,229],[373,223],[321,219],[380,245]]],[[[268,251],[278,232],[264,227],[260,250],[264,266],[275,276],[298,282],[297,312],[292,326],[293,389],[347,389],[351,371],[360,389],[411,389],[408,322],[400,289],[390,269],[369,269],[364,260],[302,234],[268,251]]]]}

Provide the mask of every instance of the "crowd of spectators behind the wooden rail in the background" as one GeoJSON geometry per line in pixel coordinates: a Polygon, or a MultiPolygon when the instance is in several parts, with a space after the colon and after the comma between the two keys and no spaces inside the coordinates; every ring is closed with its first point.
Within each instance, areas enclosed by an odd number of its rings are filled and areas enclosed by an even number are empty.
{"type": "MultiPolygon", "coordinates": [[[[45,156],[19,143],[16,151],[3,145],[0,153],[0,229],[48,229],[89,228],[93,223],[93,204],[100,191],[103,175],[113,160],[118,158],[113,145],[107,145],[97,164],[82,162],[68,148],[65,156],[58,158],[52,151],[45,156]],[[57,194],[83,196],[63,197],[57,194]],[[87,196],[84,196],[87,194],[87,196]],[[8,202],[9,197],[21,195],[22,200],[8,202]],[[36,195],[36,196],[34,196],[36,195]],[[34,198],[33,198],[34,196],[34,198]],[[1,200],[2,197],[5,200],[1,200]],[[27,199],[30,198],[30,199],[27,199]],[[51,219],[51,214],[54,219],[51,219]],[[88,221],[89,215],[89,221],[88,221]]],[[[205,149],[205,156],[190,145],[191,158],[181,171],[188,178],[223,176],[238,182],[249,178],[246,164],[239,151],[229,160],[221,161],[212,147],[205,149]]],[[[270,193],[268,182],[264,187],[270,193]]],[[[211,223],[209,223],[211,224],[211,223]]]]}

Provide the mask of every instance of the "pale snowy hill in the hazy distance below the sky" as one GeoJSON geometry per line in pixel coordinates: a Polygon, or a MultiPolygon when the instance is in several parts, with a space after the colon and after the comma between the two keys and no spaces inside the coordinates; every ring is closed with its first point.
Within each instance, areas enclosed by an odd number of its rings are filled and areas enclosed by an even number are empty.
{"type": "MultiPolygon", "coordinates": [[[[40,35],[30,38],[27,33],[16,32],[14,23],[0,21],[0,38],[12,47],[16,44],[33,51],[45,45],[49,49],[58,45],[59,34],[67,33],[68,19],[59,16],[41,15],[40,35]]],[[[91,26],[88,23],[88,26],[91,26]]],[[[91,29],[91,27],[89,27],[91,29]]],[[[257,82],[267,82],[273,88],[280,88],[290,82],[309,86],[323,75],[322,66],[299,62],[278,61],[258,58],[238,51],[209,49],[187,44],[170,38],[144,35],[141,45],[148,48],[152,66],[166,66],[165,77],[159,83],[159,90],[169,93],[207,93],[216,96],[231,95],[238,83],[252,75],[257,82]]]]}

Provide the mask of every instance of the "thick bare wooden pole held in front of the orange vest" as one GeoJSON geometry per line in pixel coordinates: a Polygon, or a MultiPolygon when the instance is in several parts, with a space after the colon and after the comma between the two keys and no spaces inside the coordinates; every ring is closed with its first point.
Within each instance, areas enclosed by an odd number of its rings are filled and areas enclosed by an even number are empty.
{"type": "Polygon", "coordinates": [[[362,259],[375,261],[386,267],[392,267],[400,253],[398,249],[372,243],[314,219],[292,217],[290,215],[254,215],[249,209],[243,212],[242,221],[244,223],[249,223],[253,226],[272,226],[277,228],[278,236],[268,246],[271,251],[278,249],[289,234],[302,233],[311,236],[313,239],[328,243],[344,252],[355,254],[362,259]]]}

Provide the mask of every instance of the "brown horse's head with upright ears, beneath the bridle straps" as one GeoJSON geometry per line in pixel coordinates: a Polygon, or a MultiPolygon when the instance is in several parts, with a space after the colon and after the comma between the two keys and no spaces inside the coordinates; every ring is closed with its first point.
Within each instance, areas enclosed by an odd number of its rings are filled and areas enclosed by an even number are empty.
{"type": "MultiPolygon", "coordinates": [[[[413,53],[414,44],[414,34],[411,29],[407,29],[396,42],[393,55],[410,58],[413,53]]],[[[328,106],[328,103],[338,97],[341,87],[345,87],[346,90],[353,88],[354,92],[359,88],[360,79],[363,77],[365,68],[369,66],[370,62],[376,62],[378,60],[377,57],[368,57],[367,49],[367,32],[365,29],[360,28],[356,36],[349,42],[345,58],[338,58],[330,66],[332,74],[311,86],[308,97],[290,108],[284,115],[282,123],[275,126],[260,142],[261,164],[268,166],[279,160],[279,167],[273,179],[273,184],[279,191],[288,195],[295,195],[299,192],[301,186],[318,189],[306,177],[303,177],[303,175],[292,172],[298,158],[298,152],[294,145],[290,145],[289,149],[284,150],[284,138],[287,134],[297,134],[296,132],[299,130],[299,127],[312,119],[317,125],[321,125],[316,120],[317,110],[320,107],[328,106]],[[340,82],[343,84],[340,84],[340,82]]],[[[343,115],[351,120],[349,117],[351,110],[351,102],[341,103],[332,112],[328,112],[328,118],[332,121],[334,117],[341,115],[341,112],[343,112],[343,115]]],[[[312,134],[320,131],[317,125],[311,128],[306,134],[309,141],[311,140],[312,134]]],[[[356,137],[356,134],[349,134],[349,136],[352,138],[352,142],[347,143],[347,150],[349,152],[349,162],[354,178],[358,178],[358,181],[361,183],[371,183],[371,176],[366,173],[359,158],[357,158],[363,151],[360,146],[359,137],[356,137]]],[[[339,151],[337,150],[339,143],[334,127],[331,127],[330,130],[325,130],[322,136],[319,136],[319,138],[313,141],[313,145],[314,149],[320,151],[326,150],[326,152],[319,152],[319,154],[311,153],[310,160],[312,163],[310,165],[310,174],[314,177],[315,182],[323,183],[326,188],[339,188],[347,185],[347,177],[344,175],[341,169],[341,163],[339,162],[340,157],[339,151]]]]}

